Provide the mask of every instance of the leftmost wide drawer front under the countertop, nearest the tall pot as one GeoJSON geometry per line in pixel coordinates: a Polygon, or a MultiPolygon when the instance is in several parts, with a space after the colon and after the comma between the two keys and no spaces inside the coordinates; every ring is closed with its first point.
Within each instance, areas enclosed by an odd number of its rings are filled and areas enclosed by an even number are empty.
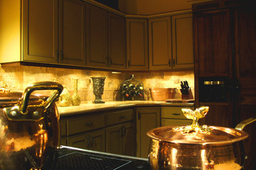
{"type": "Polygon", "coordinates": [[[105,127],[105,115],[88,116],[68,120],[68,135],[105,127]]]}

